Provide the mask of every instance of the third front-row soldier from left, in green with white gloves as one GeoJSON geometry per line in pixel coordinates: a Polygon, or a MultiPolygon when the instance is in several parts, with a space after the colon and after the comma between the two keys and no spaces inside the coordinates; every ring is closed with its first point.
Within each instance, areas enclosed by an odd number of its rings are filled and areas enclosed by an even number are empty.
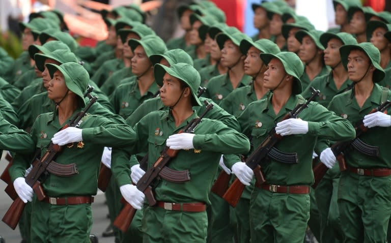
{"type": "MultiPolygon", "coordinates": [[[[264,86],[272,93],[268,99],[251,103],[238,117],[242,132],[252,136],[254,148],[275,127],[283,136],[274,147],[297,156],[297,164],[278,162],[275,157],[262,164],[267,184],[256,184],[250,198],[250,229],[253,242],[303,242],[310,217],[310,185],[314,181],[312,154],[318,138],[348,140],[354,137],[353,127],[325,107],[311,102],[298,119],[281,118],[305,100],[300,76],[304,67],[292,52],[261,53],[268,65],[264,86]],[[277,123],[277,124],[276,124],[277,123]],[[276,124],[276,125],[275,125],[276,124]],[[302,144],[305,141],[305,146],[302,144]]],[[[319,145],[316,150],[326,148],[319,145]]],[[[253,170],[245,163],[228,164],[244,184],[249,185],[253,170]]]]}

